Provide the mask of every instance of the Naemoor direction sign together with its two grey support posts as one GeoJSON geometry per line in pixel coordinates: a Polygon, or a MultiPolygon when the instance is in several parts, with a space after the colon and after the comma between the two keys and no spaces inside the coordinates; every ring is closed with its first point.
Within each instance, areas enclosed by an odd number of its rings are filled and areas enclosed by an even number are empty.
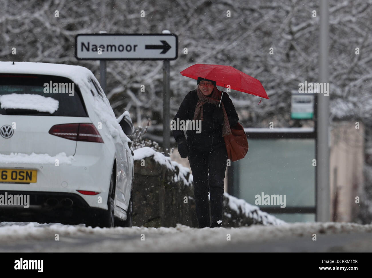
{"type": "Polygon", "coordinates": [[[106,93],[106,60],[163,60],[163,149],[170,149],[170,60],[177,59],[178,38],[164,30],[162,34],[78,34],[75,57],[100,60],[100,82],[106,93]]]}

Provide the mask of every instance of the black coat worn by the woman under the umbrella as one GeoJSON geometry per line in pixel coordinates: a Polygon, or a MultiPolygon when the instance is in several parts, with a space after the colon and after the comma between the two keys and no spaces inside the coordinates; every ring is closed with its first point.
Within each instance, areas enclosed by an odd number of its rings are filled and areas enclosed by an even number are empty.
{"type": "MultiPolygon", "coordinates": [[[[195,107],[198,103],[198,95],[196,89],[187,93],[183,99],[180,108],[176,116],[174,116],[174,121],[179,120],[192,120],[195,114],[195,107]]],[[[239,121],[235,107],[232,104],[231,99],[229,98],[226,92],[222,95],[222,102],[224,103],[227,117],[230,123],[230,128],[234,127],[239,121]]],[[[222,103],[221,103],[222,106],[222,103]]],[[[218,105],[212,103],[204,103],[203,108],[203,121],[201,121],[201,133],[196,133],[196,130],[186,130],[187,136],[187,146],[190,149],[190,146],[202,151],[211,151],[215,150],[221,146],[225,145],[224,138],[222,137],[222,125],[214,122],[212,114],[215,109],[218,108],[218,105]]],[[[172,130],[172,135],[174,139],[178,142],[181,138],[185,138],[183,130],[172,130]]]]}

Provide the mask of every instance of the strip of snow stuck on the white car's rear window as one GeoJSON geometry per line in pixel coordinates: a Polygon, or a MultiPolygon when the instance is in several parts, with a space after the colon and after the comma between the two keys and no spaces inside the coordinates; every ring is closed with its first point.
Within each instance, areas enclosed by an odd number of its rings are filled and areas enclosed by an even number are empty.
{"type": "Polygon", "coordinates": [[[53,114],[58,109],[56,99],[33,94],[10,94],[0,96],[3,109],[28,109],[53,114]]]}

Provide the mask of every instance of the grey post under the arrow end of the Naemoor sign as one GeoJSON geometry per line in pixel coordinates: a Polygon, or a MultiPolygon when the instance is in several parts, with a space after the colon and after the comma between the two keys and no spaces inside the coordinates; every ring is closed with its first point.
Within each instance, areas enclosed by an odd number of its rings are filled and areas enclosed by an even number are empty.
{"type": "Polygon", "coordinates": [[[170,62],[163,61],[163,149],[164,155],[169,156],[170,151],[170,111],[169,111],[169,87],[170,87],[170,62]]]}

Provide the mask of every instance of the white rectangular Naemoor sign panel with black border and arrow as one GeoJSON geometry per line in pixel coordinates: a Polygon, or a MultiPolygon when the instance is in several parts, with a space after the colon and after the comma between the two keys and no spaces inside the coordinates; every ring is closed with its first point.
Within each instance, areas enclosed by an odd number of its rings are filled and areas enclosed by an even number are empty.
{"type": "Polygon", "coordinates": [[[78,60],[175,60],[175,34],[78,34],[78,60]]]}

